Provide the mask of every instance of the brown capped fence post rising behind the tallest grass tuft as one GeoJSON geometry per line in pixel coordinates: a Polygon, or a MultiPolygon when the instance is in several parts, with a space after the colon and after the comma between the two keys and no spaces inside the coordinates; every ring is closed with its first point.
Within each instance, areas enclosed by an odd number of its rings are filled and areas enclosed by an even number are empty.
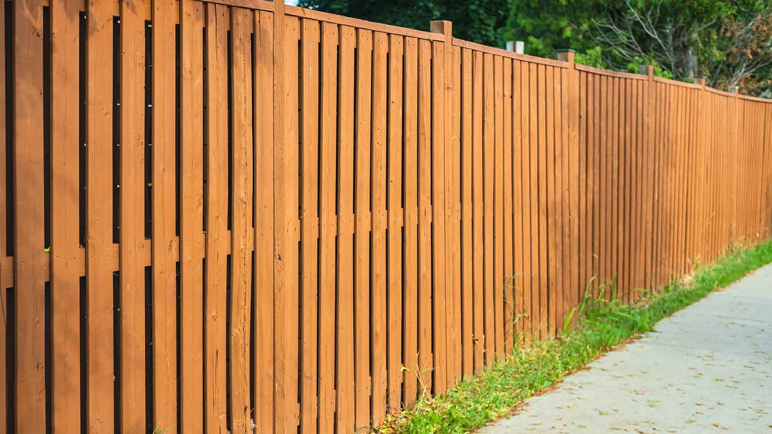
{"type": "MultiPolygon", "coordinates": [[[[568,119],[566,123],[568,126],[568,143],[566,146],[566,153],[568,158],[568,173],[567,178],[564,178],[569,184],[569,232],[567,234],[568,254],[566,255],[566,263],[564,267],[569,267],[569,275],[571,280],[564,284],[567,288],[564,288],[564,312],[570,312],[571,309],[577,307],[584,295],[584,284],[581,276],[583,275],[584,267],[580,264],[581,254],[579,254],[580,248],[580,235],[579,235],[579,217],[581,211],[579,209],[581,200],[579,198],[582,193],[581,186],[579,185],[579,72],[574,67],[574,50],[572,49],[560,49],[557,50],[557,59],[563,62],[568,62],[568,82],[567,95],[568,100],[565,102],[568,106],[568,119]]],[[[576,315],[571,318],[571,326],[576,324],[576,315]]]]}

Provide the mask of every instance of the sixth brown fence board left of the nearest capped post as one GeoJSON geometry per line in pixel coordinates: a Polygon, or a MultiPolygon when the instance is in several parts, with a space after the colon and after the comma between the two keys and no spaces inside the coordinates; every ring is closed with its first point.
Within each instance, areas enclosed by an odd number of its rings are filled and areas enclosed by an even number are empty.
{"type": "Polygon", "coordinates": [[[337,427],[354,430],[354,29],[340,27],[338,61],[337,427]]]}

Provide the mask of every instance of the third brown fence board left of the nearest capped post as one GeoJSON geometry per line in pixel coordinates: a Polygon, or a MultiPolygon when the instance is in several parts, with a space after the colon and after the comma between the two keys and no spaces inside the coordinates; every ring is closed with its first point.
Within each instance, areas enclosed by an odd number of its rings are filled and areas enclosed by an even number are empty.
{"type": "Polygon", "coordinates": [[[404,110],[403,101],[403,80],[404,76],[404,50],[405,39],[399,35],[388,35],[388,69],[386,76],[388,80],[387,99],[388,119],[388,140],[386,146],[386,158],[388,159],[388,171],[384,173],[386,177],[386,208],[388,219],[388,231],[386,241],[387,255],[387,337],[386,347],[387,360],[386,369],[387,387],[386,402],[388,409],[399,409],[401,404],[402,379],[402,291],[403,291],[403,269],[402,269],[402,235],[401,218],[403,217],[402,208],[402,189],[404,180],[402,178],[402,153],[403,153],[403,124],[402,116],[404,110]]]}

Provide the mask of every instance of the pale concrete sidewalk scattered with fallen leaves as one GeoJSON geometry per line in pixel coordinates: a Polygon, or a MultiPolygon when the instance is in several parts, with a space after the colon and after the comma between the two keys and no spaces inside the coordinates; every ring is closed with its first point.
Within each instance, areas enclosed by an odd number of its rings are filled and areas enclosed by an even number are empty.
{"type": "Polygon", "coordinates": [[[479,432],[772,433],[772,265],[479,432]]]}

